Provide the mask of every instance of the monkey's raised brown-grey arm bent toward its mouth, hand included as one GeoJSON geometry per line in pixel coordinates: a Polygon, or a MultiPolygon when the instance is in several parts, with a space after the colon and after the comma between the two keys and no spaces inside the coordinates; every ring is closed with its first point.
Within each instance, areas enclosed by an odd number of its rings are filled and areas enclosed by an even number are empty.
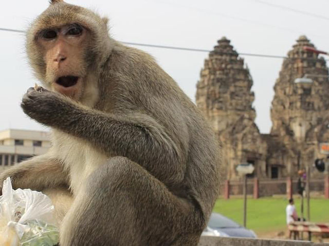
{"type": "Polygon", "coordinates": [[[162,181],[171,183],[184,178],[186,154],[181,145],[148,115],[103,113],[61,94],[34,89],[28,90],[21,106],[40,123],[87,140],[110,156],[127,157],[162,181]]]}

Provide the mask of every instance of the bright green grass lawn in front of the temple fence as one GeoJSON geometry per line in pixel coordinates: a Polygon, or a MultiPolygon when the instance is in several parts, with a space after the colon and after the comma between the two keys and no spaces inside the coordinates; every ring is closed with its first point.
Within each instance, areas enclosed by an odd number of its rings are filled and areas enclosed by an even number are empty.
{"type": "MultiPolygon", "coordinates": [[[[294,197],[298,216],[301,216],[301,199],[294,197]]],[[[285,198],[260,198],[247,200],[247,228],[256,233],[286,230],[285,198]]],[[[221,213],[237,223],[243,224],[243,199],[218,199],[214,212],[221,213]]],[[[306,200],[304,200],[304,218],[306,218],[306,200]]],[[[311,198],[310,221],[329,223],[329,200],[311,198]]]]}

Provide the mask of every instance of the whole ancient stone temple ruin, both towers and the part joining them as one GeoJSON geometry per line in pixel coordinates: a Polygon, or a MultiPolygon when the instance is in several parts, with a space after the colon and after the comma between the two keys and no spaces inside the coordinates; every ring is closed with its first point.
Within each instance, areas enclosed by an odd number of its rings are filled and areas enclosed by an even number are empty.
{"type": "Polygon", "coordinates": [[[319,144],[329,138],[328,68],[304,46],[314,48],[300,36],[283,61],[270,134],[260,134],[254,123],[252,78],[230,40],[222,37],[209,53],[197,82],[196,104],[222,142],[227,179],[237,179],[235,167],[241,163],[253,164],[259,178],[296,177],[299,169],[322,157],[319,144]]]}

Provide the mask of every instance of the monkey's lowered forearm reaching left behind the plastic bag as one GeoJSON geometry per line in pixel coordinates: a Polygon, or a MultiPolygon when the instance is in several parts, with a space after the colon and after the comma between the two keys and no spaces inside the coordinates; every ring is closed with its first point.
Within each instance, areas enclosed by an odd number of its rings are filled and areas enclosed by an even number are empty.
{"type": "Polygon", "coordinates": [[[0,188],[7,177],[11,177],[13,188],[30,188],[36,191],[68,184],[68,176],[62,165],[49,154],[33,157],[1,173],[0,188]]]}

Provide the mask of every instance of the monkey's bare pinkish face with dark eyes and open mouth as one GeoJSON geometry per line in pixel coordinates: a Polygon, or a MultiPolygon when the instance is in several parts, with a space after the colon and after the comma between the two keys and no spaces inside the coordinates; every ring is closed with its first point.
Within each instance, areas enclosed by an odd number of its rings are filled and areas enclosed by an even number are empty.
{"type": "Polygon", "coordinates": [[[36,42],[45,63],[45,83],[54,91],[79,100],[86,80],[89,33],[79,24],[41,30],[36,42]]]}

